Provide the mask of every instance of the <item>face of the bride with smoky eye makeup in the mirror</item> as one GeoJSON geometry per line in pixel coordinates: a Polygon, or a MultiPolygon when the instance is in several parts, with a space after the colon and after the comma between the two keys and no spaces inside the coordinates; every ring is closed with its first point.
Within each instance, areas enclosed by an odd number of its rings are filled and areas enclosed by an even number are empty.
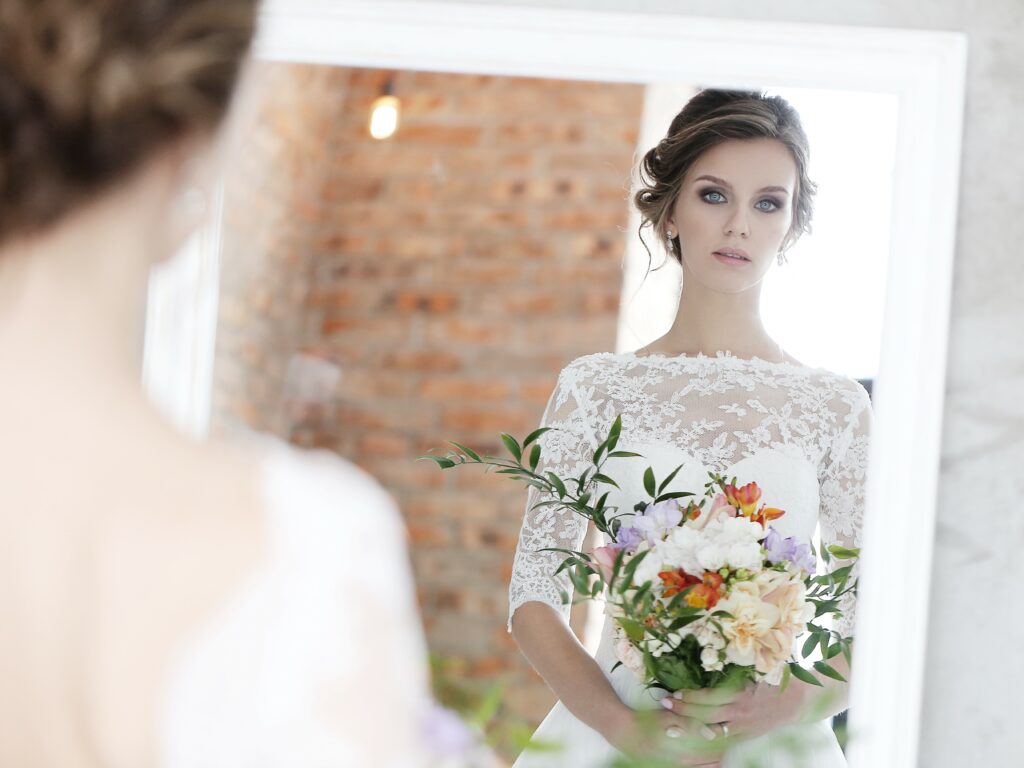
{"type": "Polygon", "coordinates": [[[683,271],[705,287],[739,293],[771,267],[793,222],[797,164],[773,138],[730,139],[687,172],[667,229],[679,234],[683,271]],[[721,249],[749,260],[724,259],[721,249]]]}

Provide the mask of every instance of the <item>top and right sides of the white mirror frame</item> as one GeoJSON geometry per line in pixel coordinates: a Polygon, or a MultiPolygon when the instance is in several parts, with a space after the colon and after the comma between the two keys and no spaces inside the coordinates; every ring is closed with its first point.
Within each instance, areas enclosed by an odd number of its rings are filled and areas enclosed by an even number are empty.
{"type": "Polygon", "coordinates": [[[873,390],[848,756],[856,768],[915,765],[967,37],[427,0],[270,0],[254,55],[340,67],[898,96],[894,257],[873,390]],[[904,599],[893,599],[894,584],[904,599]]]}

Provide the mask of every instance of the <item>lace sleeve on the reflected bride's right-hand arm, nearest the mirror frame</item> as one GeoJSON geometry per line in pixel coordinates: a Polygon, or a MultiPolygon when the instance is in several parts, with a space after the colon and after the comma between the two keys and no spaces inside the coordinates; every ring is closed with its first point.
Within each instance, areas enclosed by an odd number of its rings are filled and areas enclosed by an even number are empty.
{"type": "MultiPolygon", "coordinates": [[[[820,481],[821,546],[860,547],[864,520],[864,479],[867,470],[867,449],[871,429],[871,402],[867,390],[853,382],[855,388],[843,391],[848,407],[846,423],[836,434],[822,464],[820,481]]],[[[851,581],[860,572],[855,561],[851,581]]],[[[835,629],[845,637],[853,633],[856,598],[844,595],[840,602],[842,616],[835,629]]]]}

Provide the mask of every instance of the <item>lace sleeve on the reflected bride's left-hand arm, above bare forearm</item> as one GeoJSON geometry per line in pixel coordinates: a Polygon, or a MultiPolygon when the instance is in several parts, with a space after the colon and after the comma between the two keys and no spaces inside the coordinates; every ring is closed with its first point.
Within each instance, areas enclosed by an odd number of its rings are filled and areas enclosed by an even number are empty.
{"type": "MultiPolygon", "coordinates": [[[[548,399],[541,426],[552,429],[540,438],[539,472],[575,477],[591,464],[597,444],[590,427],[587,400],[581,394],[579,374],[571,364],[566,366],[548,399]]],[[[509,632],[516,609],[531,600],[551,605],[568,622],[571,606],[562,603],[561,595],[564,592],[571,600],[572,583],[564,571],[554,574],[564,555],[538,550],[545,547],[579,550],[587,534],[587,521],[565,509],[535,506],[554,498],[553,494],[527,488],[526,510],[509,584],[509,632]]]]}

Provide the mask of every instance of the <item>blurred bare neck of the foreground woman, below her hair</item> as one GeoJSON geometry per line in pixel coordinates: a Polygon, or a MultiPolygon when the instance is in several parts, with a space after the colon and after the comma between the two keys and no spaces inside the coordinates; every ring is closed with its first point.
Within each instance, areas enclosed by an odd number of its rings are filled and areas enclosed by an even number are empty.
{"type": "Polygon", "coordinates": [[[151,184],[123,184],[0,249],[0,408],[142,396],[157,199],[151,184]]]}

